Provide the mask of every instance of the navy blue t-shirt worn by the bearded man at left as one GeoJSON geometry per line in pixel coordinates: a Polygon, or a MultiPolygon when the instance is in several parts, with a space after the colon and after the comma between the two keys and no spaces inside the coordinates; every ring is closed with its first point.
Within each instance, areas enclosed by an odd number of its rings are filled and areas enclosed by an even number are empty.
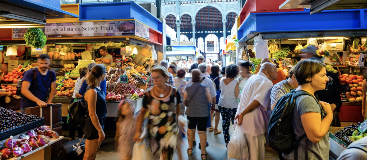
{"type": "MultiPolygon", "coordinates": [[[[28,71],[24,72],[22,80],[29,81],[31,83],[29,86],[29,91],[38,99],[42,100],[43,102],[46,102],[48,89],[50,88],[51,83],[56,81],[56,73],[55,71],[51,70],[52,72],[51,76],[50,71],[48,70],[47,75],[44,76],[38,71],[38,68],[35,68],[35,71],[36,71],[36,78],[34,80],[33,80],[34,73],[32,69],[29,69],[28,71]]],[[[25,96],[22,97],[22,104],[21,104],[22,108],[36,107],[36,106],[38,106],[36,102],[33,102],[32,100],[26,98],[25,96]]]]}

